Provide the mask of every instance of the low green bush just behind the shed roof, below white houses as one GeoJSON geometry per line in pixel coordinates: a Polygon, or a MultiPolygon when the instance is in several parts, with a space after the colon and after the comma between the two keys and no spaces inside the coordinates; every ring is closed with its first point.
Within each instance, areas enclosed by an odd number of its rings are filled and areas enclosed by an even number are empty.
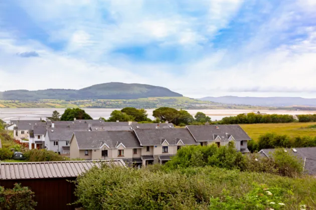
{"type": "Polygon", "coordinates": [[[61,156],[54,151],[46,149],[31,149],[23,153],[26,160],[30,162],[41,162],[41,161],[63,161],[68,158],[61,156]]]}

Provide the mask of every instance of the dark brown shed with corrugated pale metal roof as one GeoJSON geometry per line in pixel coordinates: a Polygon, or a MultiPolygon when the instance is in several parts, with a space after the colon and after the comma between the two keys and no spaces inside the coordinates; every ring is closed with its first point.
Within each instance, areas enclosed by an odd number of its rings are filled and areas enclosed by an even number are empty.
{"type": "Polygon", "coordinates": [[[67,205],[76,200],[75,185],[68,180],[75,180],[82,172],[101,162],[125,166],[121,159],[88,161],[54,162],[1,162],[0,185],[13,188],[15,183],[28,186],[35,192],[35,209],[74,209],[67,205]]]}

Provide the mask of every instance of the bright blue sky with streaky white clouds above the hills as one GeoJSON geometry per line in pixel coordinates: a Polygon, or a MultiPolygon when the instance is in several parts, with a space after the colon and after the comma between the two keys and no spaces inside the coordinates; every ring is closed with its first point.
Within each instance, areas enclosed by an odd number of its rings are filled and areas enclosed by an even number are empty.
{"type": "Polygon", "coordinates": [[[2,0],[0,91],[316,98],[316,0],[2,0]]]}

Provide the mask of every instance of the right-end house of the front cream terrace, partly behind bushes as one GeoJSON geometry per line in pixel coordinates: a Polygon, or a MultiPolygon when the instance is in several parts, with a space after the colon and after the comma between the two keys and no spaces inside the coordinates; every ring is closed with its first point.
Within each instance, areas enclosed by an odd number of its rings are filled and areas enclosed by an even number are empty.
{"type": "Polygon", "coordinates": [[[194,139],[201,145],[216,143],[218,146],[227,145],[234,141],[237,151],[249,152],[247,141],[249,135],[237,124],[229,125],[187,125],[194,139]]]}

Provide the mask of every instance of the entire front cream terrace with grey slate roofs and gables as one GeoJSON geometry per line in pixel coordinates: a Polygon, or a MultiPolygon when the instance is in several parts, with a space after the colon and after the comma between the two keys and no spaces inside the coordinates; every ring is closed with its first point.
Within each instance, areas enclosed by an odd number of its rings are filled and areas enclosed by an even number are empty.
{"type": "Polygon", "coordinates": [[[175,128],[166,124],[132,125],[130,130],[75,131],[70,141],[70,157],[84,159],[122,158],[136,166],[165,163],[185,145],[219,146],[234,141],[246,153],[250,137],[239,125],[192,125],[175,128]],[[147,128],[144,128],[147,127],[147,128]]]}

